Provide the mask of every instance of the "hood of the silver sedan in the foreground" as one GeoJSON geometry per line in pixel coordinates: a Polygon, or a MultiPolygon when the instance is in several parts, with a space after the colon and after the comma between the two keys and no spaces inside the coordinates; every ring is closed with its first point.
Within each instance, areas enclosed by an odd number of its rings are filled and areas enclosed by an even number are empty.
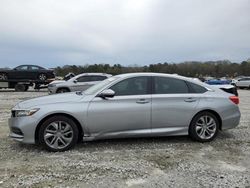
{"type": "Polygon", "coordinates": [[[76,92],[49,95],[20,102],[16,105],[15,108],[29,109],[32,107],[39,107],[41,105],[46,105],[46,104],[77,102],[83,97],[84,97],[83,94],[79,93],[77,94],[76,92]]]}

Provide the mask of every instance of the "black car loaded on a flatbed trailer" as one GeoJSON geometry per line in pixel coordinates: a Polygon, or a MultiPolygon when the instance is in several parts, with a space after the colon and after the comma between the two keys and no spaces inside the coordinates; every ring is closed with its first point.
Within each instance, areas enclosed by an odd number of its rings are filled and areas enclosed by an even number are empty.
{"type": "Polygon", "coordinates": [[[0,69],[0,80],[40,80],[55,78],[53,70],[37,65],[20,65],[14,69],[0,69]]]}

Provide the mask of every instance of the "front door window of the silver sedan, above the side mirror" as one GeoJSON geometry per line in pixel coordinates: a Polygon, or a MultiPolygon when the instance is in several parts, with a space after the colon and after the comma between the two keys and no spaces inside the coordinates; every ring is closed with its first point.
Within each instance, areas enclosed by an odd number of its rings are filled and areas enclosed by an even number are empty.
{"type": "Polygon", "coordinates": [[[148,90],[148,77],[134,77],[120,81],[110,87],[115,92],[115,96],[124,95],[146,95],[148,90]]]}

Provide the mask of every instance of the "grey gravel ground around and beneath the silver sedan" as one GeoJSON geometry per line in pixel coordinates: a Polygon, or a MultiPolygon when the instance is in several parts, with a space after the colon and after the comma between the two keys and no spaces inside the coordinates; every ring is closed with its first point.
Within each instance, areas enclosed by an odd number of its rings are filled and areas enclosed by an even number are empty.
{"type": "Polygon", "coordinates": [[[240,125],[210,143],[188,137],[103,140],[63,153],[8,138],[19,101],[46,91],[0,90],[0,187],[250,187],[250,91],[240,125]]]}

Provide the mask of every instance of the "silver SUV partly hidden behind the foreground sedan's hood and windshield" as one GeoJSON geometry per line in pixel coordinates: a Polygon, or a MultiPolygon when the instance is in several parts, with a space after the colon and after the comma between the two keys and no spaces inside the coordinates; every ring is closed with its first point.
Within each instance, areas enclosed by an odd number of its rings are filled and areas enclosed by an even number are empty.
{"type": "Polygon", "coordinates": [[[89,87],[111,76],[112,76],[111,74],[105,74],[105,73],[83,73],[67,81],[61,80],[61,81],[51,82],[48,85],[49,94],[65,93],[72,91],[84,91],[89,87]]]}

